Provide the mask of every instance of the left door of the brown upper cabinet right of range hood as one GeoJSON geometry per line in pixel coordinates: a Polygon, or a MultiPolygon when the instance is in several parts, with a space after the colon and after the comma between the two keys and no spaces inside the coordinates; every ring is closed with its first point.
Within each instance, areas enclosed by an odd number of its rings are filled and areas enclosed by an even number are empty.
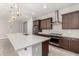
{"type": "Polygon", "coordinates": [[[66,14],[62,17],[62,28],[63,29],[71,29],[72,28],[72,20],[73,15],[72,14],[66,14]]]}

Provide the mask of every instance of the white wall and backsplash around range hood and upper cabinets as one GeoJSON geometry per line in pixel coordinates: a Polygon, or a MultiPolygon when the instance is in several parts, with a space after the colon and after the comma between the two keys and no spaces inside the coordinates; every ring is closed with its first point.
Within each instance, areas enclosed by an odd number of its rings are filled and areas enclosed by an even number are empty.
{"type": "MultiPolygon", "coordinates": [[[[77,11],[79,10],[79,4],[77,5],[72,5],[72,6],[68,6],[67,8],[61,9],[59,10],[59,20],[62,21],[62,14],[65,13],[69,13],[69,12],[73,12],[73,11],[77,11]]],[[[37,19],[43,19],[43,18],[47,18],[47,17],[53,17],[53,20],[55,20],[55,12],[49,13],[47,15],[38,17],[37,19]]],[[[53,24],[53,29],[52,30],[43,30],[42,33],[63,33],[63,35],[79,35],[79,29],[62,29],[62,24],[53,24]]]]}

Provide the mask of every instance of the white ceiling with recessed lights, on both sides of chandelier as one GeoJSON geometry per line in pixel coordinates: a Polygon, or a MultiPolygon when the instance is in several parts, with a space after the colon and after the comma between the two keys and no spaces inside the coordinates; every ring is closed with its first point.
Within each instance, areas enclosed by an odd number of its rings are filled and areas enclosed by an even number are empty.
{"type": "MultiPolygon", "coordinates": [[[[20,8],[21,13],[21,16],[18,18],[22,19],[26,16],[40,17],[45,14],[51,13],[54,10],[59,10],[74,4],[75,3],[18,3],[17,5],[20,8]]],[[[9,7],[12,5],[13,4],[11,3],[0,3],[0,16],[10,16],[9,7]]]]}

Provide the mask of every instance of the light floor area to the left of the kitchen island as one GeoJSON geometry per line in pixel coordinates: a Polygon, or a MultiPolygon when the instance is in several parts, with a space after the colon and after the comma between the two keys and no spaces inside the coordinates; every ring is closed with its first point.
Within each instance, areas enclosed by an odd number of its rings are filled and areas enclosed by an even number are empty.
{"type": "Polygon", "coordinates": [[[9,39],[0,39],[0,56],[18,56],[9,39]]]}

